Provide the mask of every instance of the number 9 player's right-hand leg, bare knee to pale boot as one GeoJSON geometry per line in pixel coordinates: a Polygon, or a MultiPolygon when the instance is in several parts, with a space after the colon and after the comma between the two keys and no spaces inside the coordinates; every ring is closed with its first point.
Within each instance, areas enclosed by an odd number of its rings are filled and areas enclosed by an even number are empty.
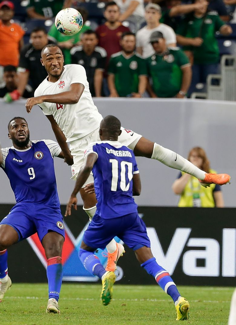
{"type": "Polygon", "coordinates": [[[47,313],[58,313],[58,299],[62,285],[62,246],[64,237],[55,231],[48,232],[42,239],[42,246],[47,257],[48,305],[47,313]]]}

